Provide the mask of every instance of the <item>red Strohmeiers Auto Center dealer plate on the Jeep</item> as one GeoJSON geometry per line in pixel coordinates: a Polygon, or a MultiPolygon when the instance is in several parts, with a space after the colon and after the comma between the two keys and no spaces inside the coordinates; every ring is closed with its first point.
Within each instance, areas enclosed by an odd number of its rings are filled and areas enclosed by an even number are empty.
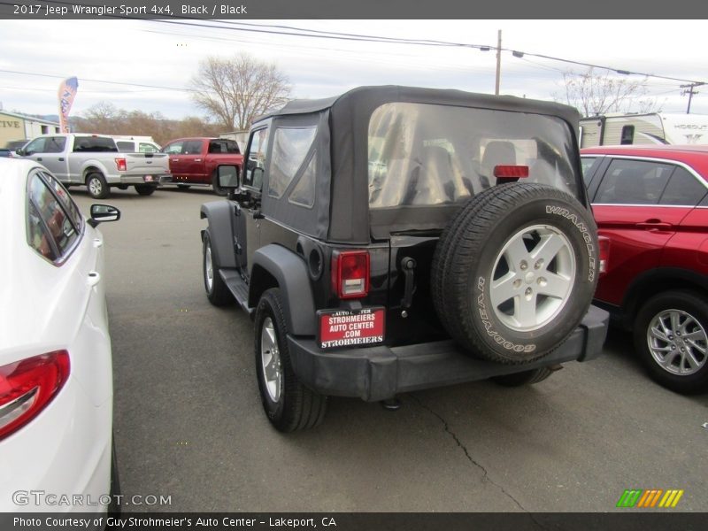
{"type": "Polygon", "coordinates": [[[319,317],[320,349],[350,347],[383,342],[386,313],[384,308],[364,308],[359,312],[349,310],[323,310],[319,317]]]}

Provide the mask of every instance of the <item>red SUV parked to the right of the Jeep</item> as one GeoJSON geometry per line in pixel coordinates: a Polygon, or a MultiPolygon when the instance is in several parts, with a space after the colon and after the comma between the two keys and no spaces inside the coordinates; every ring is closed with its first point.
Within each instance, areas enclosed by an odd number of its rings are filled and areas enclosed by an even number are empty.
{"type": "Polygon", "coordinates": [[[708,146],[581,150],[607,244],[596,304],[634,331],[650,375],[708,389],[708,146]]]}

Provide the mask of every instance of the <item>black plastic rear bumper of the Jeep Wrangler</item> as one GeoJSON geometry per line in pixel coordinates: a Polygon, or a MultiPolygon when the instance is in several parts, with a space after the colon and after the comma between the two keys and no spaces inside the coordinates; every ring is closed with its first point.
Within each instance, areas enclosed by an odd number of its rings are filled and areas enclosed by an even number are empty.
{"type": "Polygon", "coordinates": [[[452,341],[320,350],[312,338],[288,336],[288,346],[293,369],[304,385],[323,395],[357,396],[374,402],[418,389],[597,358],[602,352],[607,322],[607,312],[590,306],[581,325],[557,350],[521,366],[472,358],[452,341]]]}

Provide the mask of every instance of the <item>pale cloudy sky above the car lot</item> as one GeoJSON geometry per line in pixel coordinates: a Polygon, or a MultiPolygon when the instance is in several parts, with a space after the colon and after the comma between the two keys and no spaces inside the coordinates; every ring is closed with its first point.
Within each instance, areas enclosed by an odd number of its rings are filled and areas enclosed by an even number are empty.
{"type": "MultiPolygon", "coordinates": [[[[470,48],[349,42],[269,35],[141,20],[0,20],[0,103],[5,111],[56,114],[64,77],[79,78],[73,115],[111,102],[118,108],[161,112],[167,118],[202,116],[185,89],[207,56],[247,52],[276,63],[297,97],[332,96],[359,85],[402,84],[493,92],[495,52],[470,48]],[[102,83],[99,81],[113,81],[102,83]],[[115,83],[148,85],[138,87],[115,83]]],[[[633,72],[708,81],[704,20],[266,20],[252,24],[310,28],[405,39],[442,40],[609,65],[633,72]]],[[[258,27],[254,27],[258,29],[258,27]]],[[[296,32],[301,33],[301,32],[296,32]]],[[[571,65],[502,55],[501,92],[552,99],[563,93],[571,65]]],[[[583,68],[575,67],[576,71],[583,68]]],[[[650,79],[648,96],[665,112],[685,112],[681,81],[650,79]]],[[[692,112],[708,113],[708,87],[692,112]]]]}

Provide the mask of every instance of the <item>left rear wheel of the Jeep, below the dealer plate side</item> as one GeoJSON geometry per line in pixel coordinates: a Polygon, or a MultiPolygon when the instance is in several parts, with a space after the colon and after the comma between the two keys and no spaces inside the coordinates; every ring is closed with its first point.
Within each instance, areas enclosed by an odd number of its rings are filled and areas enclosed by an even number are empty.
{"type": "Polygon", "coordinates": [[[273,427],[281,432],[318,426],[327,412],[327,396],[304,387],[290,361],[288,327],[281,290],[272,288],[261,296],[256,310],[256,372],[263,409],[273,427]]]}

